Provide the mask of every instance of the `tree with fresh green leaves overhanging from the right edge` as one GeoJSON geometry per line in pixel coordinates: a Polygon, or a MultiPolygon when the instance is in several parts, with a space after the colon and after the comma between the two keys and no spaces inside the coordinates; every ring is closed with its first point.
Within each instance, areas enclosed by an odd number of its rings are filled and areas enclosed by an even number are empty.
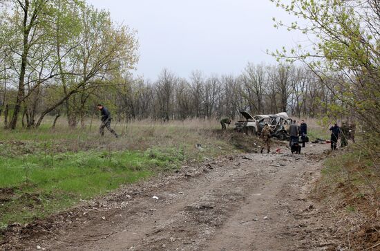
{"type": "Polygon", "coordinates": [[[329,89],[330,115],[356,116],[380,133],[380,2],[377,0],[271,0],[303,22],[276,27],[310,37],[306,48],[278,50],[274,56],[301,60],[329,89]],[[312,48],[312,50],[310,50],[312,48]]]}

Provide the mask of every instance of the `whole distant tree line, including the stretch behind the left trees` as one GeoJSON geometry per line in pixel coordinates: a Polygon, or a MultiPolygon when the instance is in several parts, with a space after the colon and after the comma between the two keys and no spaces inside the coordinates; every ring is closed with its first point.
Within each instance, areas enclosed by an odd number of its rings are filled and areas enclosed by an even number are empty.
{"type": "MultiPolygon", "coordinates": [[[[4,87],[4,86],[3,86],[4,87]]],[[[38,92],[28,97],[23,106],[24,126],[35,115],[43,118],[46,111],[67,115],[70,127],[86,118],[93,118],[95,106],[102,103],[111,108],[118,120],[186,120],[189,118],[238,118],[240,110],[253,114],[279,113],[314,117],[325,113],[328,104],[334,102],[314,73],[301,66],[278,64],[247,64],[241,75],[206,76],[193,71],[189,78],[182,78],[164,69],[155,82],[131,75],[115,75],[106,85],[94,83],[78,89],[64,102],[57,95],[66,97],[65,82],[54,89],[40,86],[38,92]],[[89,88],[91,87],[91,88],[89,88]],[[57,90],[61,90],[57,93],[57,90]],[[51,104],[54,104],[53,106],[51,104]],[[54,107],[54,109],[52,109],[54,107]]],[[[4,90],[4,89],[3,89],[4,90]]],[[[15,100],[15,89],[6,91],[5,100],[15,100]]],[[[4,94],[4,91],[3,91],[4,94]]],[[[10,104],[10,103],[8,103],[10,104]]]]}

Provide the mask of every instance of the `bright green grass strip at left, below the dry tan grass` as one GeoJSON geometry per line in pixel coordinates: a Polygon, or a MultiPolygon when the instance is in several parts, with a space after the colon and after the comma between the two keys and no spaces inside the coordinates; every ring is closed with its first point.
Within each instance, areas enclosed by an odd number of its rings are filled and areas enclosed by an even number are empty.
{"type": "Polygon", "coordinates": [[[0,204],[1,225],[47,216],[149,177],[157,169],[176,168],[181,161],[173,149],[0,157],[0,188],[12,190],[10,201],[0,204]]]}

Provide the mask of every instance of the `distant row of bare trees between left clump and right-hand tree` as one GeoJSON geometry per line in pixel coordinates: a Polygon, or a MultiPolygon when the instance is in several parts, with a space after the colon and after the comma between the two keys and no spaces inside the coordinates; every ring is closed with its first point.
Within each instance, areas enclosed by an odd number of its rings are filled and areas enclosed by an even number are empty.
{"type": "Polygon", "coordinates": [[[238,118],[287,111],[314,117],[323,113],[330,92],[301,66],[247,64],[241,75],[203,75],[185,79],[164,69],[155,82],[124,80],[117,93],[118,114],[129,119],[238,118]]]}

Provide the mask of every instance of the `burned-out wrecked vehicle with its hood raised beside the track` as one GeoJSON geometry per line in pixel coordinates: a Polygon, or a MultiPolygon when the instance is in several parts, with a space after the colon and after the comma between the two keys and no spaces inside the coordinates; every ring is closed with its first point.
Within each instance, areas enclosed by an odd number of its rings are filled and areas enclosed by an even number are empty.
{"type": "Polygon", "coordinates": [[[258,135],[263,130],[265,124],[269,124],[273,129],[272,137],[279,140],[288,140],[289,124],[292,123],[292,119],[289,118],[287,113],[278,113],[275,115],[255,115],[252,117],[246,111],[240,111],[240,113],[246,118],[246,121],[236,122],[236,130],[246,133],[247,135],[258,135]]]}

